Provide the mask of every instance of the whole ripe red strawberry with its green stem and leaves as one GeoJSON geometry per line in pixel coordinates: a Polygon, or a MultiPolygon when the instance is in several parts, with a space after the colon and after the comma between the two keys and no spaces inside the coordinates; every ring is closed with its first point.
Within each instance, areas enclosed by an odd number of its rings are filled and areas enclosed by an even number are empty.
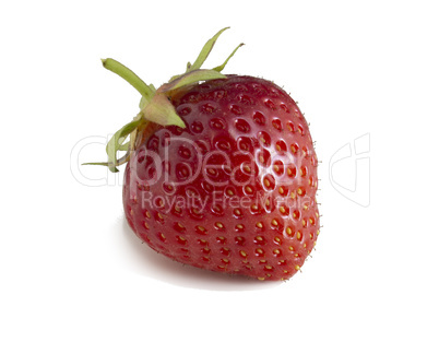
{"type": "Polygon", "coordinates": [[[126,217],[157,252],[211,271],[286,280],[319,234],[312,139],[284,90],[221,73],[237,49],[222,66],[200,69],[223,31],[157,91],[104,61],[142,94],[142,110],[110,140],[108,163],[95,164],[117,172],[128,161],[126,217]],[[120,150],[128,152],[116,160],[120,150]]]}

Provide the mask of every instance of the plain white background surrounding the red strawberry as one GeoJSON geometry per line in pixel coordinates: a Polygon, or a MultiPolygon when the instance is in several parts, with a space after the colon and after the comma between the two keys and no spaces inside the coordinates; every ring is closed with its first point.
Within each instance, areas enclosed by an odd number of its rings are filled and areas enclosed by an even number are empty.
{"type": "Polygon", "coordinates": [[[438,341],[437,13],[425,0],[3,1],[0,340],[438,341]],[[285,283],[156,255],[124,222],[121,178],[79,166],[105,160],[138,110],[100,58],[157,86],[224,26],[207,67],[246,43],[225,71],[284,86],[317,141],[323,227],[285,283]]]}

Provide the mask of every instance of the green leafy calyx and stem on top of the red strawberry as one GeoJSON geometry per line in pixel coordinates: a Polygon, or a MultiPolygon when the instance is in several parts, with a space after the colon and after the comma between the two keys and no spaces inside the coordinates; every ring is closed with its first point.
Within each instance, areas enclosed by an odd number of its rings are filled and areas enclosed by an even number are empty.
{"type": "Polygon", "coordinates": [[[115,59],[103,59],[102,61],[104,68],[121,76],[142,95],[139,104],[140,113],[133,118],[132,121],[119,129],[108,141],[106,146],[108,162],[85,163],[83,165],[103,165],[107,166],[110,172],[117,173],[119,172],[117,166],[120,166],[130,160],[131,153],[135,148],[138,133],[140,131],[147,131],[149,127],[156,125],[174,125],[185,128],[185,122],[178,116],[175,107],[171,104],[170,99],[173,97],[173,93],[182,86],[195,84],[198,82],[227,78],[226,75],[222,74],[221,71],[223,71],[228,60],[244,44],[239,44],[221,66],[213,69],[201,69],[212,51],[217,38],[227,28],[229,27],[221,30],[204,44],[195,61],[193,63],[188,62],[185,73],[174,75],[167,83],[164,83],[157,90],[154,87],[154,85],[146,84],[132,70],[115,59]],[[120,151],[124,151],[126,153],[122,157],[118,158],[117,155],[120,151]]]}

